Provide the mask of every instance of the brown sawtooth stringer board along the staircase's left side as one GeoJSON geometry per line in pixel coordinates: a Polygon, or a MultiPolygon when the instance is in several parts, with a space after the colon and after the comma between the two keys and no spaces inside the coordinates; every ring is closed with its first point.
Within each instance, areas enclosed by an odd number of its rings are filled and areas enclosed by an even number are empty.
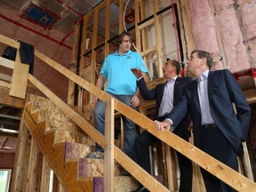
{"type": "MultiPolygon", "coordinates": [[[[24,124],[26,124],[28,131],[36,141],[36,145],[51,166],[53,172],[60,180],[60,183],[66,191],[92,191],[92,179],[77,180],[77,162],[64,162],[64,143],[54,146],[55,132],[45,134],[45,121],[36,123],[34,118],[37,116],[32,112],[33,104],[30,102],[26,105],[24,110],[24,124]],[[33,114],[33,115],[32,115],[33,114]]],[[[38,117],[38,116],[37,116],[38,117]]]]}

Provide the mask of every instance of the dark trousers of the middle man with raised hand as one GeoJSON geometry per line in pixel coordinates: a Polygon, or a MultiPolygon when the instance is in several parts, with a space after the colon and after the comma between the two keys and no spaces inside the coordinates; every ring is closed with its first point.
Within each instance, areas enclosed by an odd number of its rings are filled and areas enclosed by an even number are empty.
{"type": "MultiPolygon", "coordinates": [[[[149,146],[158,141],[150,132],[142,132],[136,139],[137,163],[148,173],[150,172],[149,146]]],[[[180,165],[180,192],[192,190],[192,163],[182,154],[177,152],[180,165]]]]}

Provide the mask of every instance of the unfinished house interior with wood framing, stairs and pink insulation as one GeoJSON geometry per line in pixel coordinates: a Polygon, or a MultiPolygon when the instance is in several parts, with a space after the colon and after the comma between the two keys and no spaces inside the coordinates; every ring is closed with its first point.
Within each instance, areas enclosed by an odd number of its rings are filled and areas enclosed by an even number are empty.
{"type": "MultiPolygon", "coordinates": [[[[23,0],[20,23],[10,16],[18,3],[10,2],[0,2],[0,51],[8,46],[17,52],[14,60],[0,57],[0,126],[18,132],[0,132],[0,171],[12,170],[6,191],[123,192],[139,183],[149,191],[179,191],[175,150],[193,161],[192,191],[206,191],[200,167],[237,191],[256,191],[255,0],[23,0]],[[87,11],[79,13],[86,5],[87,11]],[[29,14],[33,11],[44,12],[44,17],[35,20],[36,13],[29,14]],[[60,28],[58,20],[71,20],[68,14],[73,15],[72,32],[64,31],[70,26],[63,24],[61,32],[51,33],[60,28]],[[50,19],[56,23],[43,26],[50,19]],[[39,28],[44,30],[39,33],[39,28]],[[189,142],[172,132],[156,132],[155,100],[141,99],[135,111],[95,86],[105,58],[118,49],[116,37],[124,31],[132,34],[132,51],[140,52],[147,65],[148,89],[166,81],[166,58],[184,67],[195,49],[212,52],[212,70],[233,73],[252,111],[244,154],[238,156],[239,172],[196,148],[193,132],[189,142]],[[21,42],[35,48],[32,72],[21,61],[21,42]],[[105,136],[94,128],[93,95],[107,105],[105,136]],[[11,109],[18,110],[18,118],[11,109]],[[151,174],[124,154],[121,115],[138,124],[138,132],[147,129],[160,140],[150,146],[151,174]],[[11,127],[17,120],[19,125],[11,127]],[[6,153],[13,138],[15,150],[6,153]],[[105,148],[104,159],[86,158],[95,142],[105,148]],[[123,169],[131,175],[122,175],[123,169]]],[[[194,77],[186,66],[180,76],[194,77]]]]}

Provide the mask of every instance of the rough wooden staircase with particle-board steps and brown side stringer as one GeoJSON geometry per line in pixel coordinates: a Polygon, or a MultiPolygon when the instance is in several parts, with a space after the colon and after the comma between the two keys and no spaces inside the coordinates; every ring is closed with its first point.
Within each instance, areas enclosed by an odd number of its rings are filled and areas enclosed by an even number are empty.
{"type": "MultiPolygon", "coordinates": [[[[24,124],[66,191],[103,191],[104,160],[85,157],[95,142],[51,100],[28,95],[24,124]]],[[[122,176],[121,171],[116,163],[115,191],[138,188],[137,180],[122,176]]]]}

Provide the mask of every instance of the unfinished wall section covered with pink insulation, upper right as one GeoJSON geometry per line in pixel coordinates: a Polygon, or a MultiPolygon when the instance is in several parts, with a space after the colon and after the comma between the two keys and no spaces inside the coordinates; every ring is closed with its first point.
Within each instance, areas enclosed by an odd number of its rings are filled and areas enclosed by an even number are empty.
{"type": "Polygon", "coordinates": [[[256,1],[188,1],[196,49],[221,55],[216,69],[255,68],[256,1]]]}

